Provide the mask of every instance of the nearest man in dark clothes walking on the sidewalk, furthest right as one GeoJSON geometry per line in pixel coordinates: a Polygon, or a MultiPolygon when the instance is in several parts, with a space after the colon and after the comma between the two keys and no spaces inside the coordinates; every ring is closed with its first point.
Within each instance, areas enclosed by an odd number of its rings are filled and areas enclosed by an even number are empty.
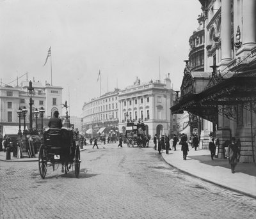
{"type": "Polygon", "coordinates": [[[236,144],[236,138],[232,137],[231,143],[228,144],[228,162],[231,165],[231,172],[232,174],[235,173],[235,167],[240,159],[240,150],[239,147],[236,144]]]}

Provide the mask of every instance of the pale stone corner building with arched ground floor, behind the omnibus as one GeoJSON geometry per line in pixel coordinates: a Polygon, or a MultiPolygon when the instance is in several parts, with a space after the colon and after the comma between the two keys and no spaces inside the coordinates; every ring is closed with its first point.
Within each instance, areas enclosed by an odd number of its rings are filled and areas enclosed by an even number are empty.
{"type": "Polygon", "coordinates": [[[169,110],[173,96],[175,94],[171,89],[170,74],[163,83],[151,80],[140,84],[140,80],[137,79],[134,85],[122,89],[118,94],[119,130],[125,133],[127,120],[143,121],[146,133],[151,137],[155,134],[173,134],[175,122],[169,110]]]}

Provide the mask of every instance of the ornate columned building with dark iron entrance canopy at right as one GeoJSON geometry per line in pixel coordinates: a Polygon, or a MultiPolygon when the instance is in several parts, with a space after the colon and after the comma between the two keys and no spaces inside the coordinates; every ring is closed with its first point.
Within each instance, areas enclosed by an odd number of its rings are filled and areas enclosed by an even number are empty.
{"type": "Polygon", "coordinates": [[[218,139],[218,157],[225,157],[225,142],[236,137],[241,162],[255,162],[256,1],[200,3],[205,23],[205,72],[191,78],[172,112],[187,110],[211,121],[218,139]],[[198,83],[202,87],[199,90],[198,83]]]}

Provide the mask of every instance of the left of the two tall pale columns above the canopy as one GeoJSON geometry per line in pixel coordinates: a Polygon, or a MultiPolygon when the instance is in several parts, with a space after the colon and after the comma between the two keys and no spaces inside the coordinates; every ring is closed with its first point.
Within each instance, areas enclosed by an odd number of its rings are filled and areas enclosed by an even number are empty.
{"type": "Polygon", "coordinates": [[[231,1],[221,1],[221,65],[231,60],[231,1]]]}

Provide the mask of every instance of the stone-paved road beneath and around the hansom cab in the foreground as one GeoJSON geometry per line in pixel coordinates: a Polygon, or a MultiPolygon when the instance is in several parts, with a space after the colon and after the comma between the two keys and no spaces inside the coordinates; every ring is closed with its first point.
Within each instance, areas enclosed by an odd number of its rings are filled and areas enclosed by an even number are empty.
{"type": "Polygon", "coordinates": [[[255,217],[255,199],[183,174],[152,148],[91,148],[79,179],[60,167],[41,179],[37,162],[0,162],[0,218],[255,217]]]}

